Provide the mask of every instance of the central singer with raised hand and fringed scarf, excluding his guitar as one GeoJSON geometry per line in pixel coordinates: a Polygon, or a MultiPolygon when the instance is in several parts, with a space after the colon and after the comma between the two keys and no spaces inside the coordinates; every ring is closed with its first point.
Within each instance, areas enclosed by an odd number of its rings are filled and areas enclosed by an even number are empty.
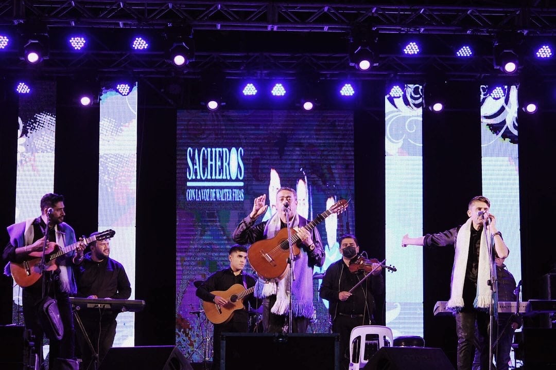
{"type": "MultiPolygon", "coordinates": [[[[312,270],[314,266],[322,266],[325,259],[322,240],[316,227],[310,231],[304,229],[309,221],[297,214],[297,194],[294,189],[281,187],[276,194],[276,213],[270,220],[255,225],[256,219],[265,214],[268,207],[265,202],[266,195],[256,197],[251,213],[237,225],[232,239],[239,244],[253,244],[251,245],[251,249],[253,249],[254,243],[257,241],[273,242],[276,239],[275,236],[280,233],[281,229],[287,227],[288,223],[291,228],[295,228],[296,231],[292,230],[291,232],[295,234],[297,240],[295,244],[299,248],[299,253],[294,256],[295,279],[291,282],[291,332],[305,333],[309,320],[314,314],[312,270]],[[286,209],[289,220],[286,219],[286,209]]],[[[292,237],[292,239],[294,238],[292,237]]],[[[284,251],[281,241],[276,241],[276,244],[272,246],[272,250],[284,251]]],[[[281,257],[287,260],[289,248],[287,245],[285,247],[285,256],[281,257]]],[[[282,255],[284,254],[282,253],[282,255]]],[[[277,258],[276,265],[285,261],[278,261],[277,258]]],[[[251,265],[254,266],[252,261],[251,265]]],[[[256,270],[255,266],[254,268],[256,270]]],[[[261,272],[257,271],[257,274],[266,278],[267,276],[261,272]]],[[[264,298],[262,315],[265,332],[287,332],[289,331],[287,325],[289,324],[290,307],[290,295],[287,292],[290,290],[290,273],[287,273],[286,270],[283,276],[265,280],[259,279],[255,287],[255,296],[264,298]]]]}

